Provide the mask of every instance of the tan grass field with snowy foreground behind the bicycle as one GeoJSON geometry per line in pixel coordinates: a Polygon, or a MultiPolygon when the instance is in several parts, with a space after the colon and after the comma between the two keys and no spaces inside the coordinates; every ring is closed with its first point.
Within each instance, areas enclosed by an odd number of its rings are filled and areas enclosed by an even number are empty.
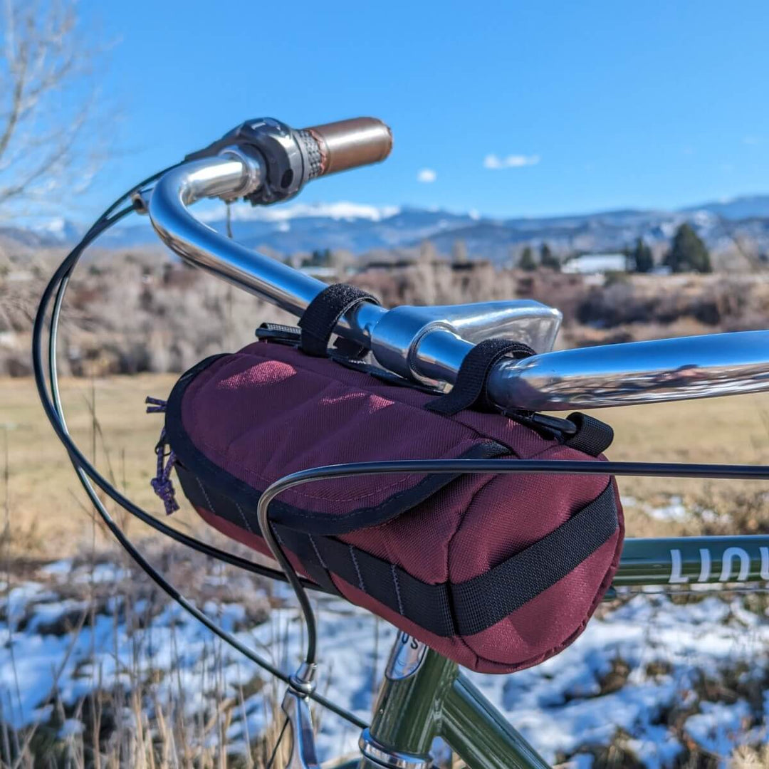
{"type": "MultiPolygon", "coordinates": [[[[165,398],[174,381],[62,382],[78,444],[158,516],[149,478],[162,418],[145,414],[144,399],[165,398]]],[[[613,425],[609,453],[619,460],[769,463],[766,395],[596,414],[613,425]]],[[[0,468],[0,767],[37,766],[45,757],[79,769],[98,765],[96,756],[115,767],[263,766],[280,687],[109,543],[29,379],[0,380],[0,468]]],[[[621,478],[620,485],[634,536],[769,531],[764,484],[621,478]]],[[[186,596],[292,671],[302,631],[284,586],[167,546],[111,509],[186,596]]],[[[217,538],[184,505],[169,520],[217,538]]],[[[766,607],[761,594],[628,595],[604,605],[584,637],[551,661],[474,679],[560,767],[767,767],[766,607]]],[[[318,611],[321,690],[367,718],[393,629],[335,599],[318,599],[318,611]]],[[[355,749],[355,729],[318,715],[322,758],[355,749]]]]}

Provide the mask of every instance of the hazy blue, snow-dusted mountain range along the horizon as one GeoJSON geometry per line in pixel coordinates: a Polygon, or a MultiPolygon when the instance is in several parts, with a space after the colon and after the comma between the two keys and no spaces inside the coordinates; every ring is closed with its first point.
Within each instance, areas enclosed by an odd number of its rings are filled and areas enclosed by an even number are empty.
{"type": "MultiPolygon", "coordinates": [[[[201,219],[225,231],[223,207],[201,209],[201,219]]],[[[158,243],[146,219],[131,220],[105,233],[105,248],[141,248],[158,243]]],[[[644,238],[651,245],[669,241],[675,229],[689,221],[712,251],[728,251],[737,236],[750,241],[758,253],[769,252],[769,195],[712,201],[677,211],[620,210],[568,216],[491,218],[476,213],[452,213],[426,208],[376,208],[355,203],[290,203],[269,208],[238,205],[232,211],[235,238],[251,248],[282,254],[331,248],[355,255],[386,249],[411,248],[424,239],[449,253],[454,241],[464,241],[471,257],[506,261],[524,244],[547,241],[560,252],[618,251],[644,238]]],[[[0,227],[0,249],[45,248],[74,244],[83,228],[54,219],[29,228],[0,227]]]]}

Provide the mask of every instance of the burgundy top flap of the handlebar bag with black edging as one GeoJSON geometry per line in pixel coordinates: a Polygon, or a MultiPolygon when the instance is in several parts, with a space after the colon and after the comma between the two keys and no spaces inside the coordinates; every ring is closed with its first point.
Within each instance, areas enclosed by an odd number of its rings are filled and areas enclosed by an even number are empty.
{"type": "MultiPolygon", "coordinates": [[[[215,476],[219,488],[224,484],[248,504],[278,478],[321,465],[529,458],[555,444],[499,414],[434,414],[423,408],[433,397],[295,348],[255,342],[207,358],[179,379],[168,400],[166,434],[178,461],[201,478],[215,476]]],[[[390,520],[454,478],[388,474],[317,481],[281,494],[272,515],[305,531],[354,531],[390,520]],[[324,514],[322,525],[313,513],[324,514]]],[[[485,481],[468,476],[461,482],[472,494],[485,481]]]]}

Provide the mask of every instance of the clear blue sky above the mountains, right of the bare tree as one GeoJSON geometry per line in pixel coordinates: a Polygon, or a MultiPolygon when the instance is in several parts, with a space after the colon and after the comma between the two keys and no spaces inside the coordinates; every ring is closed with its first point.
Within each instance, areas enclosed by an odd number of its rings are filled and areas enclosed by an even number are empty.
{"type": "Polygon", "coordinates": [[[766,2],[81,0],[117,40],[120,157],[88,212],[245,118],[375,115],[391,158],[304,201],[489,215],[769,191],[766,2]],[[423,181],[420,181],[422,179],[423,181]]]}

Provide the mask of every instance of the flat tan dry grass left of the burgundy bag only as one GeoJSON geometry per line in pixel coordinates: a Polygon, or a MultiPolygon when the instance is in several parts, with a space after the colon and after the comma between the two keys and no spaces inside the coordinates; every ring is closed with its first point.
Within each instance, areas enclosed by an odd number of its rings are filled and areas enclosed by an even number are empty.
{"type": "MultiPolygon", "coordinates": [[[[68,379],[62,393],[68,426],[78,445],[94,455],[96,466],[115,486],[148,511],[162,514],[149,479],[162,417],[145,414],[146,395],[160,398],[175,382],[171,375],[138,375],[89,381],[68,379]],[[92,404],[98,417],[94,431],[92,404]]],[[[92,541],[92,508],[72,471],[72,464],[52,431],[30,379],[0,380],[0,454],[8,441],[10,551],[14,555],[58,558],[82,552],[92,541]]],[[[0,462],[4,459],[0,456],[0,462]]],[[[110,506],[115,511],[115,505],[110,506]]],[[[149,530],[126,516],[128,533],[149,530]]],[[[122,520],[122,519],[121,519],[122,520]]],[[[195,514],[181,511],[173,522],[202,530],[195,514]]],[[[0,529],[2,530],[2,529],[0,529]]],[[[100,536],[97,534],[97,537],[100,536]]],[[[97,542],[97,544],[101,544],[97,542]]]]}

